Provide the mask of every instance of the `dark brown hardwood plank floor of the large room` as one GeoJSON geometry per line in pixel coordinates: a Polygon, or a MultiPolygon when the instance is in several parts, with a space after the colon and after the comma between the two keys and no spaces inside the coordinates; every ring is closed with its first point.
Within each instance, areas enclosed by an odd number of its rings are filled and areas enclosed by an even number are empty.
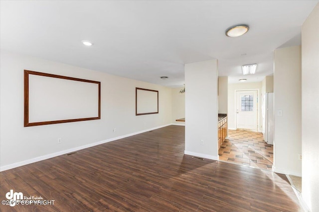
{"type": "Polygon", "coordinates": [[[184,127],[168,126],[0,172],[10,189],[54,205],[2,212],[299,212],[285,175],[184,155],[184,127]]]}

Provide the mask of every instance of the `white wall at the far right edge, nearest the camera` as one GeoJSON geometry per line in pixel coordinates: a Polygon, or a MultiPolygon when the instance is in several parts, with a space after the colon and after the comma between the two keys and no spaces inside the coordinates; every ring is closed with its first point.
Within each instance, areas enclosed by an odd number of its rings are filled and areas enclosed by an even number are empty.
{"type": "Polygon", "coordinates": [[[319,3],[302,26],[303,199],[319,212],[319,3]]]}

